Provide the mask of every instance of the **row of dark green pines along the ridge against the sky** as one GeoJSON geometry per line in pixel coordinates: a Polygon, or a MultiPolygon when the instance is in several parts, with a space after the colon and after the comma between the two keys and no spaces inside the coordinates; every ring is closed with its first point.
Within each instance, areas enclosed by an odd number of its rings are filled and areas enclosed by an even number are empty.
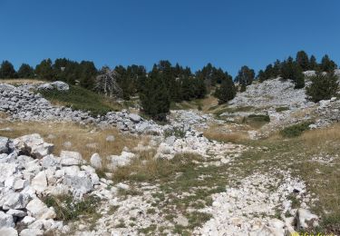
{"type": "MultiPolygon", "coordinates": [[[[219,99],[219,103],[228,103],[236,93],[246,91],[247,86],[254,80],[264,82],[277,77],[292,80],[295,88],[300,89],[305,86],[304,71],[331,73],[336,68],[337,65],[328,55],[317,63],[314,55],[308,57],[306,52],[299,51],[296,59],[289,56],[282,62],[277,60],[273,64],[268,64],[266,69],[260,70],[257,76],[253,69],[244,65],[234,79],[228,72],[212,64],[207,64],[192,73],[188,66],[172,65],[166,60],[154,64],[150,72],[144,66],[136,64],[126,67],[117,65],[113,70],[115,80],[121,88],[121,98],[130,100],[132,96],[139,95],[142,112],[154,119],[163,120],[170,110],[170,103],[204,98],[210,92],[219,99]]],[[[51,59],[44,59],[35,68],[29,64],[22,64],[18,71],[15,71],[13,64],[4,61],[0,66],[0,78],[60,80],[93,90],[96,76],[104,71],[106,70],[98,70],[91,61],[78,63],[66,58],[58,58],[54,62],[51,59]]],[[[322,74],[317,76],[324,78],[322,74]]],[[[325,79],[324,81],[323,84],[327,83],[325,79]]],[[[308,93],[316,93],[316,91],[318,90],[313,89],[313,92],[309,90],[308,93]]]]}

